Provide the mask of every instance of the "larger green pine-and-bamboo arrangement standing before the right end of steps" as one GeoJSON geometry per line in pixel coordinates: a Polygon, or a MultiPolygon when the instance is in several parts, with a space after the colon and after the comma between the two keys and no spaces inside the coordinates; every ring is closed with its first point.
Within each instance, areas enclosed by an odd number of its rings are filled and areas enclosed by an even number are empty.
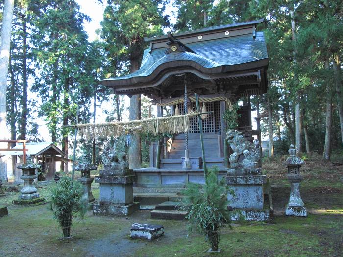
{"type": "MultiPolygon", "coordinates": [[[[230,212],[227,210],[227,194],[233,193],[223,180],[217,179],[218,167],[208,170],[207,183],[190,183],[184,192],[185,198],[180,209],[187,210],[189,232],[196,229],[204,234],[212,251],[218,251],[220,227],[230,226],[230,212]]],[[[230,226],[231,228],[231,226],[230,226]]]]}

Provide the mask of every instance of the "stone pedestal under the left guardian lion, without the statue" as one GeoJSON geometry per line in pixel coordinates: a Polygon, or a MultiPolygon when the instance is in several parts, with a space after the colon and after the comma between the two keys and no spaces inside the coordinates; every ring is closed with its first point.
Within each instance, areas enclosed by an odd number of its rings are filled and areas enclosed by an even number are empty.
{"type": "Polygon", "coordinates": [[[139,210],[139,203],[133,202],[132,183],[136,175],[123,174],[116,170],[100,170],[95,182],[100,183],[99,203],[93,205],[93,214],[126,216],[139,210]]]}

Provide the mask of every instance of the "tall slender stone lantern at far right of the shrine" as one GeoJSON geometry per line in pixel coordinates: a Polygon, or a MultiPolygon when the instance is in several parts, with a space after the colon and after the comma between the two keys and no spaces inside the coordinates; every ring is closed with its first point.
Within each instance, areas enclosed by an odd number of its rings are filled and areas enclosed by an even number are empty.
{"type": "Polygon", "coordinates": [[[304,161],[296,156],[293,144],[291,144],[288,153],[290,156],[287,158],[285,165],[288,171],[287,178],[291,183],[291,193],[285,213],[287,216],[306,217],[307,211],[300,196],[300,181],[303,179],[300,174],[300,167],[304,164],[304,161]]]}

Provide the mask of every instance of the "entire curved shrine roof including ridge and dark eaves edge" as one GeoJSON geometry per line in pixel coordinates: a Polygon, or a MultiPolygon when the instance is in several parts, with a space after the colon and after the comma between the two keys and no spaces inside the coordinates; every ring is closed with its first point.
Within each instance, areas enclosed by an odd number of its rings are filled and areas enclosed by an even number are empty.
{"type": "Polygon", "coordinates": [[[201,74],[213,75],[261,67],[267,69],[269,57],[264,33],[255,31],[256,24],[261,22],[263,19],[182,32],[172,35],[176,41],[168,36],[147,38],[150,47],[144,51],[139,70],[101,82],[116,90],[123,86],[157,86],[161,82],[157,77],[166,70],[174,70],[173,74],[176,74],[194,69],[201,74]],[[166,52],[172,42],[179,42],[184,51],[166,52]]]}

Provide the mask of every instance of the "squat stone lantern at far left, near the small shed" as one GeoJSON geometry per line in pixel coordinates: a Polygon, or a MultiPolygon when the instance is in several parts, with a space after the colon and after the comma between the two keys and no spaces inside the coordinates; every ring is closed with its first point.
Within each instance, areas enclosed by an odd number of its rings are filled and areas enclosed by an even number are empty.
{"type": "Polygon", "coordinates": [[[38,177],[36,169],[41,166],[32,162],[31,156],[27,157],[26,163],[19,165],[17,168],[22,170],[22,176],[24,180],[24,187],[20,190],[18,200],[14,200],[14,204],[34,204],[44,201],[44,198],[39,197],[37,188],[33,185],[33,181],[38,177]]]}

